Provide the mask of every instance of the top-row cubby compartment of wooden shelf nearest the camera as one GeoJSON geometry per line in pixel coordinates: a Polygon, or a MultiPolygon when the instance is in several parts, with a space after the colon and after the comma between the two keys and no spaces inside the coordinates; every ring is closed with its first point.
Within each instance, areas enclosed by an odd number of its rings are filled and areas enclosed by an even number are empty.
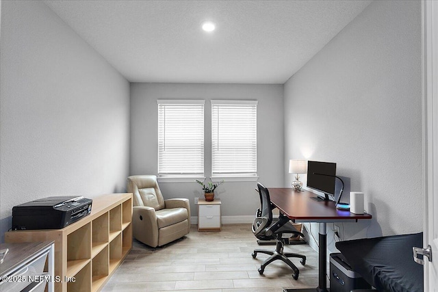
{"type": "Polygon", "coordinates": [[[91,223],[67,235],[67,277],[73,277],[90,263],[91,223]]]}

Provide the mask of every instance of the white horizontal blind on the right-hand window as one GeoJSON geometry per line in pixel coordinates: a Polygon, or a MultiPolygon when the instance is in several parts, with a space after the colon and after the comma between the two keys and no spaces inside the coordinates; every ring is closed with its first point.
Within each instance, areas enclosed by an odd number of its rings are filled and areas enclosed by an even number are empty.
{"type": "Polygon", "coordinates": [[[211,101],[211,176],[257,175],[257,101],[211,101]]]}

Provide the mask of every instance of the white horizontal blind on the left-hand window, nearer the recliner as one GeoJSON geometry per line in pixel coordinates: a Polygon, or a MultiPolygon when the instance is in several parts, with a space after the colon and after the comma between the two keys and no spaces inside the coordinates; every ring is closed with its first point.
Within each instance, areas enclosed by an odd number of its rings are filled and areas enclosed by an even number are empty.
{"type": "Polygon", "coordinates": [[[158,100],[158,174],[204,175],[205,101],[158,100]]]}

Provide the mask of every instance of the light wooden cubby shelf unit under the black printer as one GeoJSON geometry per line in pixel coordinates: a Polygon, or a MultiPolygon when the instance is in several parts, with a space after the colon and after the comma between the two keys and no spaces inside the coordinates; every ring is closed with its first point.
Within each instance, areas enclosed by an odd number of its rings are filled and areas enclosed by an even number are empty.
{"type": "Polygon", "coordinates": [[[132,248],[132,194],[92,200],[90,215],[66,228],[5,233],[8,243],[55,241],[55,276],[62,278],[55,291],[99,291],[132,248]]]}

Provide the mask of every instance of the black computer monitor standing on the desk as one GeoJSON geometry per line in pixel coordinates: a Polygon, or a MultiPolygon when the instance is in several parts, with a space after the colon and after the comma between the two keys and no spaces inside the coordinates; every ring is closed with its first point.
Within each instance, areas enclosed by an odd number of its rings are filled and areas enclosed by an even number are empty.
{"type": "Polygon", "coordinates": [[[313,197],[314,200],[329,200],[335,196],[336,163],[322,161],[307,162],[307,187],[320,191],[324,197],[313,197]]]}

